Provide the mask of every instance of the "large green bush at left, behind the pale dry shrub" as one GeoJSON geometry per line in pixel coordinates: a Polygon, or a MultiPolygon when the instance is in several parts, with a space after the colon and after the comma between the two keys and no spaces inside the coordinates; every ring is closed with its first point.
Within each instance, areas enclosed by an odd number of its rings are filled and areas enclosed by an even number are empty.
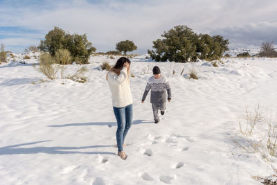
{"type": "Polygon", "coordinates": [[[80,64],[87,64],[91,53],[96,51],[87,35],[69,34],[62,28],[55,27],[50,30],[44,40],[40,41],[40,51],[48,51],[52,56],[58,49],[67,49],[71,53],[72,60],[80,64]]]}

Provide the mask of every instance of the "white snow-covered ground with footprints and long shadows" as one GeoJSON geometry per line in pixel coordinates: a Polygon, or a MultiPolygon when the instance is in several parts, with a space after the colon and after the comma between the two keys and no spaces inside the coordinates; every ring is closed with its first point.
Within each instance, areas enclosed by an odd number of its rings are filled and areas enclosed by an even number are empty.
{"type": "Polygon", "coordinates": [[[213,67],[132,58],[134,121],[123,161],[106,71],[99,68],[116,58],[92,57],[84,84],[37,83],[45,79],[33,67],[37,59],[22,58],[0,65],[0,184],[260,184],[252,176],[276,174],[276,157],[245,152],[234,141],[246,109],[276,113],[277,59],[222,59],[213,67]],[[154,65],[172,87],[159,124],[150,94],[141,104],[154,65]],[[191,69],[199,80],[188,79],[191,69]]]}

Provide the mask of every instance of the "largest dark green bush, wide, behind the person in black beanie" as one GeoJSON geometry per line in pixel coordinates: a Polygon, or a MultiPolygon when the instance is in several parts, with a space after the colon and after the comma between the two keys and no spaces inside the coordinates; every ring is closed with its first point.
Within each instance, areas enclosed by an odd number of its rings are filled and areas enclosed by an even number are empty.
{"type": "Polygon", "coordinates": [[[157,62],[195,62],[197,58],[217,60],[228,50],[229,44],[228,39],[220,35],[197,35],[188,26],[175,26],[161,37],[164,38],[153,41],[155,51],[148,50],[152,60],[157,62]]]}

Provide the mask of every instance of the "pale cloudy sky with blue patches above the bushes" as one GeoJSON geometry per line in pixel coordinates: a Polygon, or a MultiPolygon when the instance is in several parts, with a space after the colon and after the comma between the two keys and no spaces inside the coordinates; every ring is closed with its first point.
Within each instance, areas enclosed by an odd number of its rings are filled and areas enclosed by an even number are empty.
{"type": "Polygon", "coordinates": [[[186,25],[195,33],[222,35],[229,49],[277,44],[276,0],[0,0],[0,43],[22,53],[58,26],[87,34],[96,52],[129,39],[147,53],[164,31],[186,25]]]}

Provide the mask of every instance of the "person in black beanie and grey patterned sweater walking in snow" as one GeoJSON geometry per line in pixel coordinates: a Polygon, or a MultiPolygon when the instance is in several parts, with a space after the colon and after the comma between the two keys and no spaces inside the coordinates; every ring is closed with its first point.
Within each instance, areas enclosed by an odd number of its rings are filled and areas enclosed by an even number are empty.
{"type": "Polygon", "coordinates": [[[159,123],[159,109],[161,110],[161,115],[163,115],[166,110],[166,99],[168,99],[168,102],[171,101],[171,89],[168,79],[161,76],[161,71],[157,66],[153,68],[153,76],[148,79],[148,84],[146,85],[141,103],[144,102],[150,89],[150,103],[152,103],[154,121],[155,123],[159,123]],[[168,92],[167,97],[166,92],[168,92]]]}

